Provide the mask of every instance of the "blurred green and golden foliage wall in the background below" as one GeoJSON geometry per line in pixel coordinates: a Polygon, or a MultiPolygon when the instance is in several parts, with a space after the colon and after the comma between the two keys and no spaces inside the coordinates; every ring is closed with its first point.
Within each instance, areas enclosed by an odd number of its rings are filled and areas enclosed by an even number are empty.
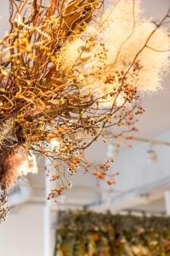
{"type": "Polygon", "coordinates": [[[170,218],[60,212],[54,256],[170,256],[170,218]]]}

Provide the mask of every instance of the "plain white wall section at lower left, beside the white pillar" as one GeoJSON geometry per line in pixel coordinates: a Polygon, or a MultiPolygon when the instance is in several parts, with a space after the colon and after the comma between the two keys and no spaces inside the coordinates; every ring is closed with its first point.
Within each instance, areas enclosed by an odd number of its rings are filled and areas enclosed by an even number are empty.
{"type": "Polygon", "coordinates": [[[43,255],[43,206],[24,205],[0,224],[1,256],[43,255]]]}

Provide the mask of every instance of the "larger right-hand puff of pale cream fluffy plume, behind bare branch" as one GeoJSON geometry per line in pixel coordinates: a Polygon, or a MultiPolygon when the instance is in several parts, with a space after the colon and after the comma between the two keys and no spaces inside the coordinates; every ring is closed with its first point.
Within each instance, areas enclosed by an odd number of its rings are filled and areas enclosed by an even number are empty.
{"type": "Polygon", "coordinates": [[[138,90],[157,90],[169,66],[170,39],[163,28],[140,14],[139,1],[120,1],[109,15],[101,37],[113,72],[123,68],[128,71],[129,83],[138,90]],[[134,73],[136,63],[139,68],[134,73]]]}

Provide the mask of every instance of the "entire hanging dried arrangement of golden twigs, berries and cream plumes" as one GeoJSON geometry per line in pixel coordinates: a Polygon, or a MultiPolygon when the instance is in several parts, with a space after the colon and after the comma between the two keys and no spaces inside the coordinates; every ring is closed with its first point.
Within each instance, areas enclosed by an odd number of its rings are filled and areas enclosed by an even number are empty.
{"type": "Polygon", "coordinates": [[[84,152],[107,128],[135,130],[144,111],[138,92],[159,88],[168,67],[162,26],[170,10],[154,23],[137,0],[106,11],[102,0],[46,2],[9,1],[10,29],[0,41],[0,182],[11,188],[22,168],[33,172],[32,154],[42,154],[60,181],[50,199],[71,187],[78,168],[115,183],[109,160],[94,166],[84,152]]]}

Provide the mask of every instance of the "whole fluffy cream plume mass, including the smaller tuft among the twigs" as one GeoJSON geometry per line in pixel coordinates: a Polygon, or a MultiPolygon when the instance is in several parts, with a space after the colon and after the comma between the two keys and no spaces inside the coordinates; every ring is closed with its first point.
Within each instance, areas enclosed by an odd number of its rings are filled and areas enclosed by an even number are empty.
{"type": "Polygon", "coordinates": [[[81,83],[84,81],[82,87],[95,91],[98,96],[121,86],[122,82],[118,81],[122,72],[126,83],[137,90],[154,91],[161,87],[162,76],[169,66],[170,39],[163,28],[141,18],[139,3],[118,1],[107,10],[97,26],[88,26],[88,39],[93,38],[95,42],[89,51],[84,51],[89,42],[84,44],[83,38],[78,38],[64,50],[64,65],[68,68],[74,66],[78,58],[84,59],[83,71],[79,72],[81,83]],[[99,58],[96,58],[101,51],[98,42],[105,45],[107,56],[100,65],[99,58]],[[105,72],[99,73],[99,68],[105,72]],[[112,83],[104,82],[110,75],[114,76],[112,83]]]}

